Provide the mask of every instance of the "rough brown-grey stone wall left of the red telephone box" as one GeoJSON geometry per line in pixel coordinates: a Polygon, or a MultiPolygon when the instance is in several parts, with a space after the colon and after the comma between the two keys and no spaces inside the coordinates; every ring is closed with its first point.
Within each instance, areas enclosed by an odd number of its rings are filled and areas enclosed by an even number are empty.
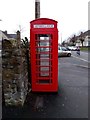
{"type": "Polygon", "coordinates": [[[28,91],[26,49],[2,43],[2,90],[5,105],[22,105],[28,91]]]}

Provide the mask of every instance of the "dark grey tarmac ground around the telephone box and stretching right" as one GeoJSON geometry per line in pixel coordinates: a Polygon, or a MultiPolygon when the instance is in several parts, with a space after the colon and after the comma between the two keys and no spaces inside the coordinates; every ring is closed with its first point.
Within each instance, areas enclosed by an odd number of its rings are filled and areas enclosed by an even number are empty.
{"type": "Polygon", "coordinates": [[[72,54],[58,58],[57,94],[30,92],[24,107],[3,107],[3,117],[88,118],[88,62],[72,54]]]}

